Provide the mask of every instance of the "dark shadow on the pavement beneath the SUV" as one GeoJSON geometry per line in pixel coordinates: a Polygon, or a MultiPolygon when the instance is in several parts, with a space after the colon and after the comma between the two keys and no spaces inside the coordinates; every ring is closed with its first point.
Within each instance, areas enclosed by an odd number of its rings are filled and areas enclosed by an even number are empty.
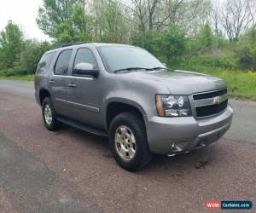
{"type": "MultiPolygon", "coordinates": [[[[108,158],[112,162],[109,164],[116,164],[113,160],[112,153],[108,149],[108,138],[91,135],[82,130],[73,129],[67,125],[63,125],[61,131],[58,134],[71,134],[73,137],[79,138],[77,143],[86,143],[86,146],[101,152],[103,158],[108,158]]],[[[191,153],[177,154],[176,156],[167,157],[163,155],[154,155],[154,158],[148,166],[138,171],[137,174],[146,175],[154,171],[176,171],[173,176],[185,176],[189,174],[191,170],[204,170],[214,163],[216,155],[218,156],[218,142],[199,150],[192,151],[191,153]]],[[[119,167],[118,167],[119,168],[119,167]]],[[[120,169],[120,168],[119,168],[120,169]]]]}

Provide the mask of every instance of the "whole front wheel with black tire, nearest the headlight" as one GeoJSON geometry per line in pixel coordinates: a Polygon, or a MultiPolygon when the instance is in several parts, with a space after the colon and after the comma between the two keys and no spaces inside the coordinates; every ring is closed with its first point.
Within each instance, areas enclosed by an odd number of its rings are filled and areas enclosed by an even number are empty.
{"type": "Polygon", "coordinates": [[[113,118],[109,147],[117,163],[129,171],[143,170],[153,157],[148,149],[143,118],[134,112],[123,112],[113,118]]]}

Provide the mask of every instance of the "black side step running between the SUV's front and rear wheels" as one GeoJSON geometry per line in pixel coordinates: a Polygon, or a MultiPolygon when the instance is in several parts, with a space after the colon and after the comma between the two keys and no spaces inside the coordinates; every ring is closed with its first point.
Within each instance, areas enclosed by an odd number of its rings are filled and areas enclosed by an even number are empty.
{"type": "Polygon", "coordinates": [[[103,137],[108,137],[108,134],[102,130],[98,130],[94,127],[90,127],[88,125],[84,125],[84,124],[80,124],[77,122],[74,122],[72,120],[66,119],[66,118],[57,118],[58,121],[60,121],[61,123],[67,124],[69,126],[72,126],[73,128],[79,129],[79,130],[83,130],[85,132],[88,132],[90,134],[93,135],[99,135],[99,136],[103,136],[103,137]]]}

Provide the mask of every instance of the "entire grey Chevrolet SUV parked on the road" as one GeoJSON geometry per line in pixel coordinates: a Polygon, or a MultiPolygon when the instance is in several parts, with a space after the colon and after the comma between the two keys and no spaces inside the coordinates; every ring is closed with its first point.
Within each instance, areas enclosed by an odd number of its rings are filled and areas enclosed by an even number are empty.
{"type": "Polygon", "coordinates": [[[108,136],[125,170],[141,170],[153,153],[189,153],[229,130],[226,83],[172,71],[145,49],[110,43],[70,45],[45,53],[35,76],[44,124],[62,123],[108,136]]]}

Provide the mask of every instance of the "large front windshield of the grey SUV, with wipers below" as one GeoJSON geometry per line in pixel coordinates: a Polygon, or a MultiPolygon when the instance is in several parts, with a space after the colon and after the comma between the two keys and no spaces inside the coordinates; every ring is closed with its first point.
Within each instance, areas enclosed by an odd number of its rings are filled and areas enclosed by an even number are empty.
{"type": "MultiPolygon", "coordinates": [[[[100,47],[100,55],[107,66],[108,72],[125,70],[132,72],[137,69],[131,68],[146,68],[165,67],[153,55],[149,54],[145,49],[128,46],[110,46],[100,47]]],[[[139,70],[139,69],[138,69],[139,70]]]]}

